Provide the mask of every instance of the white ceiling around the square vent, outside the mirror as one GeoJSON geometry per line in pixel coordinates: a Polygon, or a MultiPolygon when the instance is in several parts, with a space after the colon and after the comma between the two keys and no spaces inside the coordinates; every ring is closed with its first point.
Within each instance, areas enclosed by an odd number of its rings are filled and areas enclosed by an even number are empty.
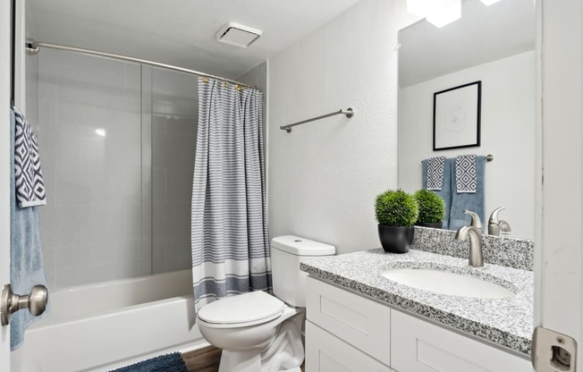
{"type": "Polygon", "coordinates": [[[28,0],[27,36],[235,79],[358,1],[28,0]],[[246,49],[220,43],[228,21],[263,36],[246,49]]]}

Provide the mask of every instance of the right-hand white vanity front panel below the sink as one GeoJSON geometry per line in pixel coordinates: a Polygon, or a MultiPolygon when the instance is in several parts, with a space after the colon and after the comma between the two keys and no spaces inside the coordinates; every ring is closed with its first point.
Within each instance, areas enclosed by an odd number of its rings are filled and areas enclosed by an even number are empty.
{"type": "Polygon", "coordinates": [[[391,317],[391,367],[400,372],[532,372],[527,359],[400,311],[391,317]]]}

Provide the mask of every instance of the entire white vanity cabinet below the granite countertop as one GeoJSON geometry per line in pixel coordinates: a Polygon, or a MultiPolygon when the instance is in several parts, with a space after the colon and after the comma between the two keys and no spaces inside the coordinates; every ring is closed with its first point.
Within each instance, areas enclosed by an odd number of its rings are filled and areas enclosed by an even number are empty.
{"type": "Polygon", "coordinates": [[[528,359],[311,276],[307,296],[306,372],[532,371],[528,359]]]}

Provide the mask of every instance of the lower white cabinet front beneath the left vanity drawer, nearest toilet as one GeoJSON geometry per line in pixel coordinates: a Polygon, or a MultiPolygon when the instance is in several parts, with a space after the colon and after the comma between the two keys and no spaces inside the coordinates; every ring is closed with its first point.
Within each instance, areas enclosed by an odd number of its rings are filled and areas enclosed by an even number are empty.
{"type": "Polygon", "coordinates": [[[306,321],[306,372],[390,372],[383,363],[306,321]]]}

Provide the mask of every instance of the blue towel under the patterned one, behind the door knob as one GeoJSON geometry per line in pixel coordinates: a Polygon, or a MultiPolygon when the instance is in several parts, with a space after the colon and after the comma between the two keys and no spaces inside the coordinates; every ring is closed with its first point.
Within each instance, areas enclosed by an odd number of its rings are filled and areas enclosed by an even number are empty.
{"type": "MultiPolygon", "coordinates": [[[[40,247],[40,216],[38,207],[19,207],[16,203],[15,165],[14,165],[14,134],[18,121],[16,110],[11,110],[11,178],[10,178],[10,282],[13,292],[28,294],[37,285],[46,286],[46,276],[43,266],[43,255],[40,247]]],[[[28,310],[19,310],[10,319],[10,348],[18,349],[24,342],[24,331],[32,323],[42,317],[32,317],[28,310]]]]}

